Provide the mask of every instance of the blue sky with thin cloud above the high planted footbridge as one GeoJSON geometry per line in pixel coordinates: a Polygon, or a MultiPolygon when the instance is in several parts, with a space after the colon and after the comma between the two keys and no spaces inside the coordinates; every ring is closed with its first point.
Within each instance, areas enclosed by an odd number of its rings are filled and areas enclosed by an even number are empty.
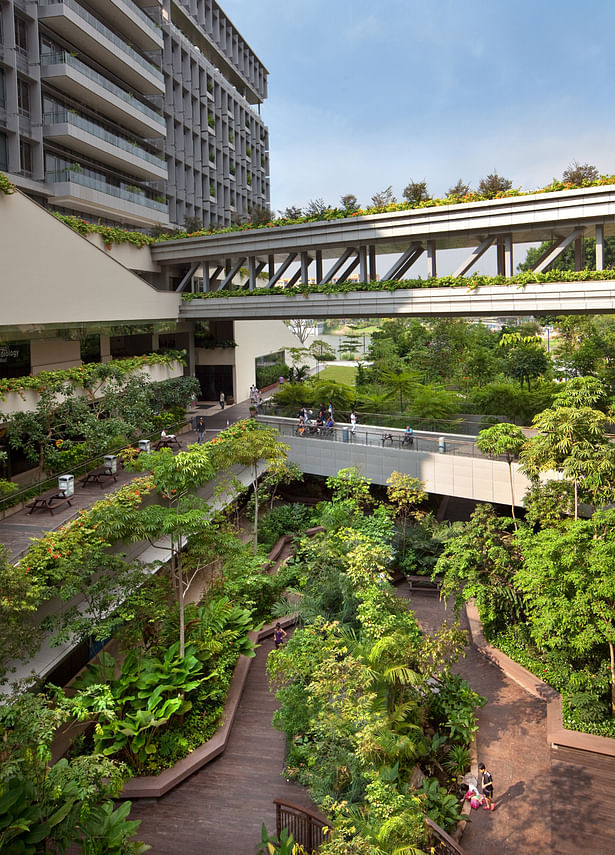
{"type": "Polygon", "coordinates": [[[271,207],[615,173],[614,0],[219,0],[269,70],[271,207]]]}

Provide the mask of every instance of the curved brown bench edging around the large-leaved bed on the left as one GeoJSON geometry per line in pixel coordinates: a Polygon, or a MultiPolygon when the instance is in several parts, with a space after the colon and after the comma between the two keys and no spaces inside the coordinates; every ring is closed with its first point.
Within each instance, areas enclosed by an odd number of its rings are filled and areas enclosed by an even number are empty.
{"type": "MultiPolygon", "coordinates": [[[[296,615],[288,615],[280,618],[280,624],[286,628],[292,626],[297,620],[296,615]]],[[[258,632],[249,632],[248,638],[250,641],[258,643],[263,638],[273,635],[275,624],[270,623],[264,626],[258,632]]],[[[157,799],[168,793],[178,784],[181,784],[186,778],[197,772],[207,763],[210,763],[216,757],[223,753],[231,735],[235,714],[239,707],[239,701],[243,693],[250,665],[254,657],[240,656],[229,687],[224,711],[222,713],[223,724],[216,730],[211,739],[204,742],[187,757],[178,760],[177,763],[170,769],[165,769],[159,775],[145,775],[142,777],[130,778],[126,781],[122,792],[118,798],[123,799],[157,799]]]]}

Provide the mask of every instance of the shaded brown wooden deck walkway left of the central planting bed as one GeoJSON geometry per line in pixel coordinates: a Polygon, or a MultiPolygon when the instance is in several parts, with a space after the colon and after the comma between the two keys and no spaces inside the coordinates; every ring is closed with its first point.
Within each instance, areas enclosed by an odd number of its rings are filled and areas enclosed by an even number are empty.
{"type": "Polygon", "coordinates": [[[264,822],[275,830],[273,799],[314,804],[301,787],[282,777],[283,734],[271,719],[276,701],[265,661],[273,641],[258,648],[225,753],[161,799],[133,802],[138,838],[152,855],[254,855],[264,822]]]}

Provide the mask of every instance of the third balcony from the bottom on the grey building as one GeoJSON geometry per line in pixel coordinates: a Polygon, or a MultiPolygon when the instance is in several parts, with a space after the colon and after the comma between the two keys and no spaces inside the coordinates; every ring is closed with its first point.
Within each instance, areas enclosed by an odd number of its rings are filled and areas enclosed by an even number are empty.
{"type": "Polygon", "coordinates": [[[165,137],[166,122],[151,107],[64,51],[43,53],[41,79],[108,116],[140,137],[165,137]]]}

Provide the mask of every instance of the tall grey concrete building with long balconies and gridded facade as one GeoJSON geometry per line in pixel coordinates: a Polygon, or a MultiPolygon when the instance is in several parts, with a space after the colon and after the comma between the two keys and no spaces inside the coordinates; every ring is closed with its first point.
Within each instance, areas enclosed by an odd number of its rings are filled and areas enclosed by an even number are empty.
{"type": "Polygon", "coordinates": [[[2,0],[0,170],[152,228],[269,204],[267,69],[215,0],[2,0]]]}

